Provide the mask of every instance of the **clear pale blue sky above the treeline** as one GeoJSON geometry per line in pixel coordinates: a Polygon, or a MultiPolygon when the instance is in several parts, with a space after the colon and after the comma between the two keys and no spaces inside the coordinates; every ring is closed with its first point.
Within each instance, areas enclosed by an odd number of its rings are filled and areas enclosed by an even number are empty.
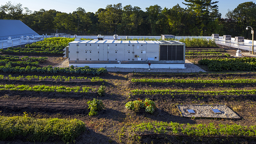
{"type": "MultiPolygon", "coordinates": [[[[182,8],[187,8],[182,2],[186,3],[184,0],[0,0],[0,5],[5,5],[6,2],[11,1],[12,4],[20,3],[22,7],[27,7],[32,12],[39,11],[40,9],[44,10],[56,10],[59,12],[72,13],[76,11],[77,8],[81,7],[86,12],[97,12],[98,9],[106,8],[108,4],[117,4],[122,3],[122,6],[131,5],[139,6],[142,11],[146,11],[145,8],[148,8],[151,5],[159,5],[161,8],[171,9],[174,5],[179,4],[182,8]]],[[[212,2],[217,0],[212,0],[212,2]]],[[[256,0],[249,0],[256,3],[256,0]]],[[[229,10],[234,10],[238,4],[248,2],[243,0],[219,0],[217,5],[219,6],[219,13],[222,14],[221,17],[225,18],[226,13],[229,10]]]]}

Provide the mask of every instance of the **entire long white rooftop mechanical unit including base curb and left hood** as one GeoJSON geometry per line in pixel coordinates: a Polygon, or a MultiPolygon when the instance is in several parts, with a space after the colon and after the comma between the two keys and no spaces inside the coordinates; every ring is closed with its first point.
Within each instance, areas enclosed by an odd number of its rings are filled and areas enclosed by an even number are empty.
{"type": "Polygon", "coordinates": [[[75,67],[185,69],[185,43],[179,41],[84,40],[63,51],[75,67]]]}

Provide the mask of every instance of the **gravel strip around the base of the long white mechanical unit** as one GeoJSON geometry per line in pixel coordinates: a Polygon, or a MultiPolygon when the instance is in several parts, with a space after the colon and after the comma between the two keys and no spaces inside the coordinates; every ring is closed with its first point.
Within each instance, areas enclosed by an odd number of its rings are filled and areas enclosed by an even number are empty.
{"type": "MultiPolygon", "coordinates": [[[[60,62],[54,67],[66,68],[69,67],[68,58],[60,62]]],[[[185,60],[186,69],[134,69],[134,68],[105,68],[108,72],[206,72],[192,62],[185,60]]]]}

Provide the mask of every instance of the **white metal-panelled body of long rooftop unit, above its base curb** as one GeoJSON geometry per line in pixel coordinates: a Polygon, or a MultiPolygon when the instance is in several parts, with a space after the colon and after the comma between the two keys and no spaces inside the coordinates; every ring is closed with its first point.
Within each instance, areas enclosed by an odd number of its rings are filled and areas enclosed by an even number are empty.
{"type": "Polygon", "coordinates": [[[185,63],[185,44],[178,41],[90,40],[73,41],[69,47],[71,63],[185,63]],[[162,51],[166,57],[159,49],[165,46],[169,46],[169,51],[162,51]]]}

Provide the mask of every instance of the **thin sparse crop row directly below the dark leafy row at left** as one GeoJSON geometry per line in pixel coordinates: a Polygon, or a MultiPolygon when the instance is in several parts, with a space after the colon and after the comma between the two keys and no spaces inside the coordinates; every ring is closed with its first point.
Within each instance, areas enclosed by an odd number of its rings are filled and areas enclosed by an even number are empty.
{"type": "Polygon", "coordinates": [[[79,77],[75,77],[75,76],[37,76],[37,75],[28,75],[28,76],[23,76],[23,75],[19,75],[19,76],[12,76],[12,75],[8,75],[8,77],[4,77],[4,75],[0,75],[0,79],[9,79],[9,80],[39,80],[39,81],[43,81],[45,79],[47,80],[59,80],[59,81],[66,81],[69,82],[70,80],[90,80],[91,82],[102,82],[104,81],[102,78],[100,77],[91,77],[91,78],[87,78],[84,76],[79,76],[79,77]]]}

